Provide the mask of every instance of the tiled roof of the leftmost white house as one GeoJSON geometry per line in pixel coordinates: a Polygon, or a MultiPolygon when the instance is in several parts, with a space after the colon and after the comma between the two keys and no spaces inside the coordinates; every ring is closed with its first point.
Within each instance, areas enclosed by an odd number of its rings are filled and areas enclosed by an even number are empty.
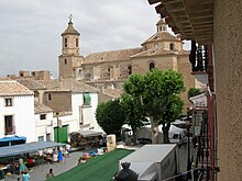
{"type": "Polygon", "coordinates": [[[0,80],[0,95],[32,95],[33,91],[15,80],[0,80]]]}

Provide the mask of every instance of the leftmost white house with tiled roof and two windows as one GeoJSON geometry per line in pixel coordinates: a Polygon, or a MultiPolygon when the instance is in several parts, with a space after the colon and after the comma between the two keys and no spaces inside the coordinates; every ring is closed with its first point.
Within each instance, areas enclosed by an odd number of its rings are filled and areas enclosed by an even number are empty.
{"type": "Polygon", "coordinates": [[[1,80],[0,120],[0,138],[16,135],[35,142],[34,92],[15,80],[1,80]]]}

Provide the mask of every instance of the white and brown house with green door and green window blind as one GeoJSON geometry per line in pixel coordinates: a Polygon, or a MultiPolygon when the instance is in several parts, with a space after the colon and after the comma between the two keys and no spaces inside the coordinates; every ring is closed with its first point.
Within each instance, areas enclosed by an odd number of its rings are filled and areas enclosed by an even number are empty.
{"type": "Polygon", "coordinates": [[[40,80],[46,90],[43,103],[54,112],[54,140],[68,142],[68,134],[98,129],[96,109],[99,89],[73,79],[40,80]]]}

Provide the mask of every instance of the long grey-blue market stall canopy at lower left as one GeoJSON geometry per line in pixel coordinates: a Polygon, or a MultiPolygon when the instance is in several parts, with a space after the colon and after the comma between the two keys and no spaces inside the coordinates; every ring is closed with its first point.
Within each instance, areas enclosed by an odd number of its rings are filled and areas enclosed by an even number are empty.
{"type": "Polygon", "coordinates": [[[37,150],[43,150],[46,148],[52,148],[57,146],[65,146],[65,144],[52,143],[52,142],[36,142],[36,143],[0,147],[0,158],[22,155],[28,152],[35,152],[37,150]]]}

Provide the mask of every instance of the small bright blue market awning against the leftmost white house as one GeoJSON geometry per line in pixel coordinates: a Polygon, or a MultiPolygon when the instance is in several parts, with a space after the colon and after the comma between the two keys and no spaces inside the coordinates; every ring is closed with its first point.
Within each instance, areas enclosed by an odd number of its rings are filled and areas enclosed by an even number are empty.
{"type": "Polygon", "coordinates": [[[3,138],[0,138],[0,147],[1,146],[11,146],[11,145],[19,145],[19,144],[25,144],[26,137],[24,136],[7,136],[3,138]]]}

